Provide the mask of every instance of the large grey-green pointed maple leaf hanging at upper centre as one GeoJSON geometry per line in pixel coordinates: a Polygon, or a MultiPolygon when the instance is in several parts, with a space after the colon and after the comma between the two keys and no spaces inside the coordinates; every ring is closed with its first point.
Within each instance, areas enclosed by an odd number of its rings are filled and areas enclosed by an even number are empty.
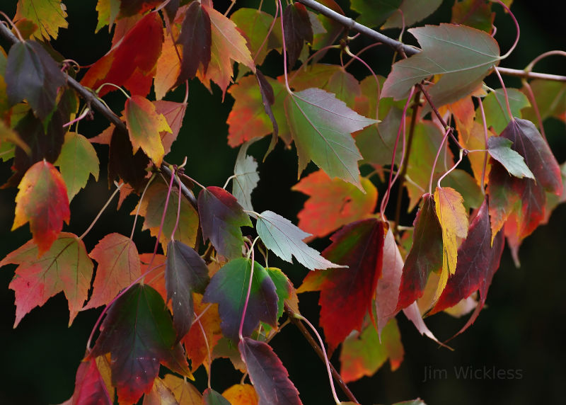
{"type": "Polygon", "coordinates": [[[314,88],[292,93],[285,113],[299,155],[299,173],[312,160],[328,176],[362,189],[357,164],[362,155],[351,134],[376,120],[350,110],[333,93],[314,88]]]}

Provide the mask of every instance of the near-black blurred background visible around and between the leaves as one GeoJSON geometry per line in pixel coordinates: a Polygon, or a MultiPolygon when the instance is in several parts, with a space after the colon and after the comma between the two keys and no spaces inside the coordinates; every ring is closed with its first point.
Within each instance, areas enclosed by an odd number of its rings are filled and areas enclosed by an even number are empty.
{"type": "MultiPolygon", "coordinates": [[[[2,1],[1,11],[13,16],[16,1],[2,1]]],[[[95,62],[108,51],[110,35],[103,28],[94,34],[96,27],[96,1],[67,1],[69,30],[61,30],[54,41],[55,49],[67,58],[86,65],[95,62]]],[[[347,2],[340,4],[347,10],[347,2]]],[[[444,1],[441,8],[427,23],[449,21],[453,1],[444,1]]],[[[237,6],[257,7],[258,1],[238,1],[237,6]]],[[[217,8],[225,7],[216,1],[217,8]]],[[[267,6],[265,6],[267,7],[267,6]]],[[[509,16],[499,13],[495,24],[496,39],[507,52],[514,40],[515,30],[509,16]]],[[[265,9],[265,8],[264,8],[265,9]]],[[[521,25],[521,40],[514,54],[502,62],[504,67],[523,68],[542,52],[566,48],[564,17],[566,6],[560,1],[515,1],[512,6],[521,25]]],[[[394,30],[386,32],[395,37],[394,30]]],[[[410,35],[405,35],[410,38],[410,35]]],[[[363,40],[359,47],[364,46],[363,40]]],[[[366,42],[369,43],[369,42],[366,42]]],[[[355,46],[354,46],[355,49],[355,46]]],[[[386,74],[392,52],[378,47],[365,55],[366,62],[386,74]]],[[[335,62],[329,55],[328,62],[335,62]]],[[[267,59],[267,69],[280,74],[281,60],[276,55],[267,59]]],[[[352,64],[353,74],[359,79],[364,70],[352,64]]],[[[563,59],[552,57],[537,65],[536,71],[565,74],[563,59]]],[[[507,86],[520,86],[517,79],[505,77],[507,86]]],[[[499,87],[488,78],[491,86],[499,87]]],[[[184,90],[178,90],[167,98],[180,100],[184,90]]],[[[109,105],[120,111],[124,99],[114,92],[105,97],[109,105]]],[[[233,170],[237,149],[226,144],[226,117],[233,100],[226,96],[221,103],[221,92],[213,86],[210,94],[193,81],[183,130],[173,145],[168,161],[180,163],[188,157],[187,173],[207,186],[223,186],[233,170]]],[[[98,135],[108,123],[97,114],[93,122],[82,123],[83,135],[98,135]]],[[[557,120],[545,122],[550,143],[559,163],[566,160],[565,125],[557,120]]],[[[267,140],[258,142],[250,149],[260,160],[267,147],[267,140]]],[[[106,180],[105,159],[107,147],[97,147],[101,159],[98,183],[92,179],[86,190],[71,202],[71,224],[65,230],[81,234],[110,195],[106,180]]],[[[301,193],[289,188],[296,181],[296,152],[287,151],[279,142],[265,163],[260,164],[260,183],[253,193],[255,210],[272,210],[295,219],[305,200],[301,193]]],[[[310,166],[309,166],[310,168],[310,166]]],[[[7,179],[9,164],[0,163],[0,179],[7,179]]],[[[383,188],[380,188],[382,195],[383,188]]],[[[10,232],[13,222],[15,189],[0,190],[0,258],[17,249],[30,239],[25,225],[10,232]]],[[[129,234],[133,217],[129,215],[136,203],[135,198],[126,200],[119,212],[115,201],[97,222],[84,241],[88,251],[105,234],[120,232],[129,234]]],[[[406,222],[412,219],[408,217],[406,222]]],[[[550,223],[540,227],[524,241],[520,251],[521,268],[515,268],[508,249],[504,251],[502,265],[497,271],[487,297],[487,309],[475,324],[451,341],[454,351],[438,348],[428,338],[420,336],[403,315],[398,316],[405,360],[400,368],[391,372],[384,365],[374,377],[364,377],[350,384],[362,404],[392,403],[421,397],[427,404],[532,404],[561,403],[564,401],[563,384],[566,380],[564,360],[566,349],[566,304],[564,285],[566,272],[561,256],[566,234],[566,207],[560,206],[550,218],[550,223]],[[475,380],[458,379],[454,367],[483,367],[510,370],[513,379],[481,377],[475,380]],[[446,370],[446,375],[422,382],[425,370],[446,370]]],[[[141,229],[141,226],[138,225],[141,229]]],[[[153,241],[149,232],[137,232],[134,241],[140,252],[151,251],[153,241]]],[[[323,248],[325,241],[316,247],[323,248]]],[[[306,270],[289,263],[276,263],[299,285],[306,270]]],[[[0,404],[58,404],[68,399],[74,389],[74,376],[85,351],[86,340],[100,310],[91,309],[76,317],[68,328],[67,300],[61,293],[41,308],[26,315],[17,329],[13,329],[15,307],[13,291],[8,284],[16,266],[0,269],[0,404]]],[[[301,295],[301,311],[309,319],[318,319],[318,295],[301,295]]],[[[438,314],[427,319],[427,324],[441,339],[449,338],[458,331],[463,319],[453,319],[438,314]]],[[[301,393],[304,404],[331,404],[333,399],[328,387],[323,363],[293,326],[287,326],[272,341],[276,353],[289,370],[291,380],[301,393]]],[[[334,364],[337,365],[334,358],[334,364]]],[[[212,367],[213,388],[219,392],[239,382],[241,375],[233,372],[228,360],[216,360],[212,367]]],[[[206,377],[202,368],[197,372],[197,387],[204,389],[206,377]]],[[[339,395],[341,395],[339,393],[339,395]]],[[[345,399],[344,397],[341,397],[345,399]]]]}

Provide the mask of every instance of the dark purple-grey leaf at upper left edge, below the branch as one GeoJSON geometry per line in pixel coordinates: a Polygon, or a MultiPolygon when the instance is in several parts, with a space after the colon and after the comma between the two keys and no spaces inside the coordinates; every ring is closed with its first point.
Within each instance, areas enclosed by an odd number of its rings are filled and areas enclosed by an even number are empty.
{"type": "Polygon", "coordinates": [[[5,80],[8,103],[14,105],[25,99],[41,120],[52,113],[57,89],[65,84],[57,63],[35,41],[12,45],[5,80]]]}

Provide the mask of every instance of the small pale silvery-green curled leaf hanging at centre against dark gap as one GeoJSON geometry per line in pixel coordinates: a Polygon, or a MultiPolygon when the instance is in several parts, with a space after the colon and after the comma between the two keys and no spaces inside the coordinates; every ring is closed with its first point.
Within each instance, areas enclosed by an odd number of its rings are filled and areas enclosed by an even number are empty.
{"type": "Polygon", "coordinates": [[[260,175],[258,173],[258,163],[253,156],[247,154],[248,147],[253,144],[257,138],[242,144],[238,156],[236,156],[236,164],[234,164],[234,177],[232,180],[232,194],[238,200],[238,203],[244,210],[253,211],[252,192],[260,175]]]}

